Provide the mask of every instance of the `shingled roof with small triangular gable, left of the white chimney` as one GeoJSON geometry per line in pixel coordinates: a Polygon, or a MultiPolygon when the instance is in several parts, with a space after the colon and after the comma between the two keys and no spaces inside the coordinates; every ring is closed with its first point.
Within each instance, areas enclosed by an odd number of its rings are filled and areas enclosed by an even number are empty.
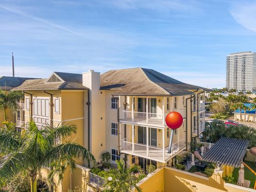
{"type": "Polygon", "coordinates": [[[82,74],[54,72],[63,82],[47,83],[47,79],[27,80],[14,90],[86,90],[87,87],[82,84],[82,74]]]}

